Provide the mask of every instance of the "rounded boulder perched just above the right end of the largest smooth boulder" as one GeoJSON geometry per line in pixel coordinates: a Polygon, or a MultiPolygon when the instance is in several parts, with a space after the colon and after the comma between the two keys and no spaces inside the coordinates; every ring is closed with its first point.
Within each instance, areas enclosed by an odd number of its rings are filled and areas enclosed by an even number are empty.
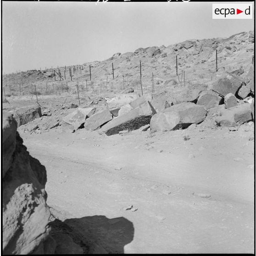
{"type": "Polygon", "coordinates": [[[218,106],[221,100],[222,98],[216,92],[206,90],[200,93],[196,104],[200,106],[205,106],[206,109],[209,109],[218,106]]]}

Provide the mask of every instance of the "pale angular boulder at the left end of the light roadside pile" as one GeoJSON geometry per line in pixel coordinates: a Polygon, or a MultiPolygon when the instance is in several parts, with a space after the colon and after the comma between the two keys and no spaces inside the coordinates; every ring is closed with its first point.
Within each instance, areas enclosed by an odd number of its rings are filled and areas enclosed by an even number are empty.
{"type": "Polygon", "coordinates": [[[79,107],[72,113],[68,114],[66,117],[63,117],[62,120],[72,125],[75,130],[77,130],[83,123],[85,119],[92,116],[96,111],[95,107],[82,108],[79,107]]]}

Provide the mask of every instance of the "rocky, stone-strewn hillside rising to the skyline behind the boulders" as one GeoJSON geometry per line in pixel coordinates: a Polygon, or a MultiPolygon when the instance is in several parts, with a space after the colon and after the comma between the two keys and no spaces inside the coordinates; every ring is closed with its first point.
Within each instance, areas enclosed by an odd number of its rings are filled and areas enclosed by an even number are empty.
{"type": "MultiPolygon", "coordinates": [[[[216,50],[218,72],[233,72],[241,68],[243,78],[249,70],[254,56],[254,32],[243,32],[229,38],[186,40],[168,45],[139,48],[134,52],[115,53],[105,61],[93,61],[83,65],[58,67],[61,78],[55,73],[57,67],[30,70],[13,75],[4,75],[6,96],[33,95],[34,85],[37,93],[43,95],[76,94],[78,84],[81,95],[120,92],[124,88],[134,87],[140,92],[141,80],[144,92],[166,90],[177,91],[186,85],[211,86],[216,80],[216,50]],[[178,76],[176,75],[176,56],[178,76]],[[112,74],[114,68],[114,79],[112,74]],[[72,80],[69,68],[72,72],[72,80]],[[89,69],[91,68],[91,78],[89,69]],[[64,73],[65,71],[65,73],[64,73]],[[66,76],[66,79],[65,79],[66,76]],[[152,81],[153,77],[153,81],[152,81]],[[62,79],[63,78],[63,79],[62,79]]],[[[49,63],[50,64],[50,63],[49,63]]],[[[8,99],[7,99],[8,100],[8,99]]]]}

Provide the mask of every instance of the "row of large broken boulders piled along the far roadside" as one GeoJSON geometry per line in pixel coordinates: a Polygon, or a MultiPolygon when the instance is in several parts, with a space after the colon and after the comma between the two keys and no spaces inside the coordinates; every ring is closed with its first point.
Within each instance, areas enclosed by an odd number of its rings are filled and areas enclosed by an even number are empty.
{"type": "Polygon", "coordinates": [[[74,130],[101,129],[106,135],[118,134],[124,130],[136,130],[150,124],[150,131],[171,131],[184,129],[203,122],[209,109],[225,106],[217,113],[218,126],[236,126],[254,120],[254,83],[252,69],[245,81],[231,73],[224,73],[212,84],[212,89],[200,91],[188,89],[170,102],[164,94],[139,96],[133,90],[106,98],[106,108],[77,108],[63,118],[74,130]],[[129,93],[131,92],[131,93],[129,93]]]}

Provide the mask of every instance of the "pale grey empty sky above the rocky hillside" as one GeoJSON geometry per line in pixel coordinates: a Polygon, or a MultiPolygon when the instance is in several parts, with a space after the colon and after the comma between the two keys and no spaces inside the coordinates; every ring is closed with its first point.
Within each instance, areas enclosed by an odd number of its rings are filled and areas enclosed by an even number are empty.
{"type": "Polygon", "coordinates": [[[253,19],[213,20],[211,9],[212,2],[3,1],[3,72],[102,61],[139,47],[254,29],[253,19]]]}

